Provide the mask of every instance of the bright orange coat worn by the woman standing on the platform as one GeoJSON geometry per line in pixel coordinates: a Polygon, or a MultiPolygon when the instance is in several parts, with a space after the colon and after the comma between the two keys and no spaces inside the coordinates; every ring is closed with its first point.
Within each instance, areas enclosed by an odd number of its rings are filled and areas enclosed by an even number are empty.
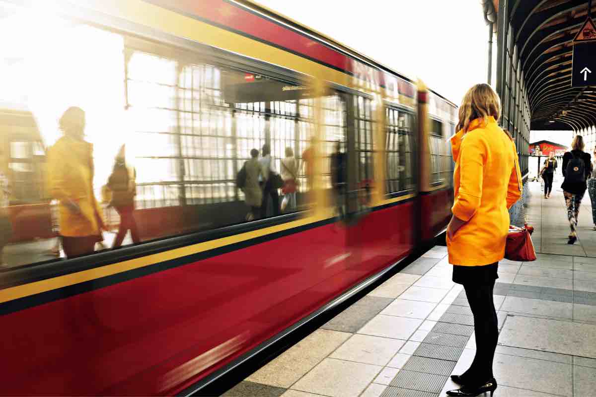
{"type": "Polygon", "coordinates": [[[522,176],[516,146],[495,118],[470,123],[451,138],[455,161],[455,204],[451,211],[466,223],[447,239],[449,263],[488,265],[505,255],[507,211],[520,198],[522,176]]]}

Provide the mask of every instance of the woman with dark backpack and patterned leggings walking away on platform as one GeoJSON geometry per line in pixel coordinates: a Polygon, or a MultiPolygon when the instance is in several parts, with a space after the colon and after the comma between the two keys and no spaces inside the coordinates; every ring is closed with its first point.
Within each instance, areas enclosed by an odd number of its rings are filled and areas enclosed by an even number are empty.
{"type": "Polygon", "coordinates": [[[576,135],[571,143],[572,150],[563,156],[563,195],[567,205],[567,219],[569,219],[569,241],[573,244],[578,239],[576,227],[578,226],[579,205],[586,192],[586,180],[592,173],[590,155],[583,151],[584,143],[581,135],[576,135]]]}

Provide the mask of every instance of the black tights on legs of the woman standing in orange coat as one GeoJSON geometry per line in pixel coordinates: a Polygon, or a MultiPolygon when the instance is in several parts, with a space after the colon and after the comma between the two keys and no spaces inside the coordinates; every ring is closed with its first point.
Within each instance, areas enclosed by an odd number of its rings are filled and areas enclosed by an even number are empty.
{"type": "Polygon", "coordinates": [[[476,334],[476,356],[470,368],[462,374],[470,385],[482,384],[492,379],[492,361],[495,357],[499,328],[496,318],[493,288],[495,280],[481,284],[464,284],[465,295],[474,315],[474,333],[476,334]]]}

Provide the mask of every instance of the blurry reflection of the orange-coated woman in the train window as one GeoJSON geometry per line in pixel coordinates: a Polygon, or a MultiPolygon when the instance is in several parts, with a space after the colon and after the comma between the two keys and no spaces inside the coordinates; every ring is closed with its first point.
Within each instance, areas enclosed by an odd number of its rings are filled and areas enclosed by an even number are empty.
{"type": "Polygon", "coordinates": [[[60,236],[70,258],[93,252],[105,226],[93,193],[93,145],[83,139],[85,112],[71,107],[59,123],[64,135],[48,151],[48,186],[59,202],[60,236]]]}

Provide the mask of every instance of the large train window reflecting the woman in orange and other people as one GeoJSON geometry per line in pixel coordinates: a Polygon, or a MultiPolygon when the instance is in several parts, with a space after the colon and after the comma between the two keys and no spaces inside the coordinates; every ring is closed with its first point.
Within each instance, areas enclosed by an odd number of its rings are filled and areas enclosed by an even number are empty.
{"type": "MultiPolygon", "coordinates": [[[[75,255],[73,240],[60,243],[58,235],[97,236],[76,253],[88,254],[307,207],[315,99],[305,86],[253,72],[237,58],[216,64],[74,21],[52,23],[52,35],[0,54],[0,67],[23,91],[13,83],[16,91],[0,99],[29,101],[0,110],[0,173],[10,186],[1,199],[20,205],[8,211],[9,267],[75,255]],[[22,67],[4,68],[15,62],[22,67]],[[51,78],[18,74],[39,64],[51,78]],[[84,135],[70,139],[75,133],[84,135]],[[297,190],[278,196],[267,173],[297,179],[297,190]],[[75,204],[100,217],[61,218],[75,204]]],[[[19,37],[27,32],[14,27],[19,37]]],[[[328,139],[345,144],[344,102],[323,102],[328,139]]]]}

